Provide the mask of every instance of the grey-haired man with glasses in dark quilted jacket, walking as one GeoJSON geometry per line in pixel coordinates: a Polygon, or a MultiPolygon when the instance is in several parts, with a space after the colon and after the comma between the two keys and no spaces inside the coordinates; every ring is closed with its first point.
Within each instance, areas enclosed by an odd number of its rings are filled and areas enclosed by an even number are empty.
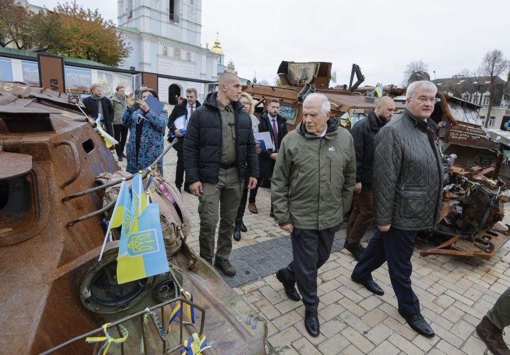
{"type": "Polygon", "coordinates": [[[407,88],[404,113],[375,137],[372,188],[379,230],[351,275],[355,282],[382,295],[371,273],[387,261],[398,312],[415,332],[426,337],[433,337],[434,332],[421,315],[411,287],[411,257],[416,233],[432,229],[441,208],[441,153],[435,133],[427,125],[436,92],[429,81],[412,83],[407,88]]]}

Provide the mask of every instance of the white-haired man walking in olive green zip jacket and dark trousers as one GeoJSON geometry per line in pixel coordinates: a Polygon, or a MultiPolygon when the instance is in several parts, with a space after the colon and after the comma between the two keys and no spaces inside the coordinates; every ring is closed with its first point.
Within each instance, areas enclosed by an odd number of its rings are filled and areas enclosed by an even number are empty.
{"type": "Polygon", "coordinates": [[[317,269],[329,258],[335,232],[356,183],[352,136],[329,120],[326,96],[310,94],[303,122],[282,140],[271,181],[274,219],[291,233],[293,261],[276,277],[290,299],[303,297],[304,325],[319,335],[317,269]]]}

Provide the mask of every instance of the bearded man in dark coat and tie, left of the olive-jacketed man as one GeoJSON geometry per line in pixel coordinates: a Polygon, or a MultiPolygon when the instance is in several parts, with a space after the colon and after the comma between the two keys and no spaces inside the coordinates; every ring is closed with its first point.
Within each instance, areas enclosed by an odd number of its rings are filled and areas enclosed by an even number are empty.
{"type": "MultiPolygon", "coordinates": [[[[285,124],[286,119],[278,114],[280,109],[280,101],[278,98],[271,98],[267,104],[267,111],[263,112],[260,117],[259,132],[269,132],[271,140],[273,141],[274,149],[262,149],[259,154],[259,171],[260,180],[265,177],[271,179],[273,175],[274,163],[278,158],[278,149],[282,139],[287,135],[287,125],[285,124]]],[[[257,206],[255,205],[255,198],[259,185],[250,191],[250,197],[248,200],[248,210],[251,213],[259,213],[257,206]]],[[[270,217],[274,217],[273,206],[271,204],[270,217]]]]}

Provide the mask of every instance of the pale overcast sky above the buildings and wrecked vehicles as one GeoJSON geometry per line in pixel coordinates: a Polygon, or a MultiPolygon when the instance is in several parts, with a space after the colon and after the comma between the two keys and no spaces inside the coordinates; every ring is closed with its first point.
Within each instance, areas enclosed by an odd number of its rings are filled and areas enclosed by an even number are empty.
{"type": "MultiPolygon", "coordinates": [[[[59,0],[29,2],[52,9],[59,0]]],[[[117,23],[115,0],[77,3],[117,23]]],[[[320,61],[333,63],[338,84],[348,84],[352,63],[362,85],[400,84],[414,60],[433,79],[433,70],[447,78],[477,68],[494,48],[510,58],[509,18],[508,0],[202,0],[201,43],[211,47],[218,31],[225,63],[246,79],[257,71],[272,83],[282,60],[320,61]]]]}

